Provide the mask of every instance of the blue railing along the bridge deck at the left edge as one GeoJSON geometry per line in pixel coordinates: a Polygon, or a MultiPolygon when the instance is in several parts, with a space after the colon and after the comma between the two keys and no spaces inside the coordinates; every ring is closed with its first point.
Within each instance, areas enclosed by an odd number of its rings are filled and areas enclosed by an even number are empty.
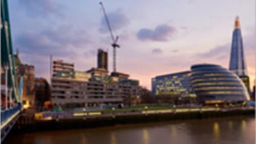
{"type": "Polygon", "coordinates": [[[10,108],[9,110],[3,110],[1,111],[1,123],[7,121],[9,118],[11,118],[16,112],[19,112],[21,110],[21,104],[16,104],[13,108],[10,108]]]}

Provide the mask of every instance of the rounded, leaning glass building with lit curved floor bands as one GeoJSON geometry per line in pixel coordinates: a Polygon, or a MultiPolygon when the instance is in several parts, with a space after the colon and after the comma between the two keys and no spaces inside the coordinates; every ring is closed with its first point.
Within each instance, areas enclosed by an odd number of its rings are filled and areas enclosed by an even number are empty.
{"type": "Polygon", "coordinates": [[[191,86],[203,104],[240,102],[249,99],[244,83],[235,73],[216,64],[191,66],[191,86]]]}

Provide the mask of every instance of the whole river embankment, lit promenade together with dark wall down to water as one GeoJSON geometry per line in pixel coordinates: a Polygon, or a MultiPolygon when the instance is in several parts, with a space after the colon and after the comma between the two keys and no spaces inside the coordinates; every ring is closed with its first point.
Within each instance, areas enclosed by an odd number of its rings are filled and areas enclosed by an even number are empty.
{"type": "MultiPolygon", "coordinates": [[[[127,109],[126,109],[127,110],[127,109]]],[[[76,128],[97,128],[108,125],[146,123],[153,121],[177,121],[188,119],[213,119],[255,115],[255,108],[165,108],[143,110],[102,110],[91,112],[43,112],[36,117],[23,115],[16,123],[14,132],[38,132],[76,128]],[[43,115],[41,115],[43,114],[43,115]],[[43,117],[39,117],[39,116],[43,117]]]]}

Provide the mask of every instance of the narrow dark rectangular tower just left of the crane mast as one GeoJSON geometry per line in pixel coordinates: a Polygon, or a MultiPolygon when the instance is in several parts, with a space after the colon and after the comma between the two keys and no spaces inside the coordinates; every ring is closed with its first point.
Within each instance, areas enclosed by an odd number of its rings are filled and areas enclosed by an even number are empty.
{"type": "Polygon", "coordinates": [[[97,68],[108,70],[108,53],[102,49],[97,50],[97,68]]]}

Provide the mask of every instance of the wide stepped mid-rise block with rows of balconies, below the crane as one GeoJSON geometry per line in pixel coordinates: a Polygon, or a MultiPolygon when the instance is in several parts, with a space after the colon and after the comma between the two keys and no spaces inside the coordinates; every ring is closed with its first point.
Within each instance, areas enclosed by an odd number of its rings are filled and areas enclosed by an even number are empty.
{"type": "Polygon", "coordinates": [[[62,108],[121,104],[128,96],[139,95],[137,80],[100,75],[97,69],[86,72],[71,70],[73,67],[69,71],[56,70],[51,77],[51,102],[62,108]]]}

